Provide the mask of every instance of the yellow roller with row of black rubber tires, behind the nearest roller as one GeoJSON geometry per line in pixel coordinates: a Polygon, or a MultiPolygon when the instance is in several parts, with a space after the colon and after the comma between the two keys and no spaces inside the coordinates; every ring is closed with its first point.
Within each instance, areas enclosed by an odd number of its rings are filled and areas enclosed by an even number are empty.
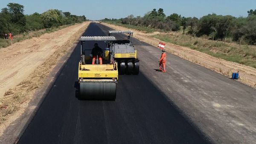
{"type": "Polygon", "coordinates": [[[108,36],[113,34],[127,34],[128,39],[115,40],[112,46],[112,56],[118,64],[120,75],[138,75],[140,72],[140,60],[137,58],[137,50],[132,44],[132,31],[108,31],[108,36]]]}

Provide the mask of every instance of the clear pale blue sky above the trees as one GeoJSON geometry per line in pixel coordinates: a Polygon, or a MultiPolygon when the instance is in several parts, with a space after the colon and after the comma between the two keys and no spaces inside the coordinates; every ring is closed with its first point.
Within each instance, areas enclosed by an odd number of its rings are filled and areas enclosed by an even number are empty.
{"type": "Polygon", "coordinates": [[[129,14],[143,16],[154,8],[162,8],[167,16],[177,13],[198,18],[212,13],[247,17],[248,10],[256,9],[256,0],[0,0],[0,9],[8,3],[23,5],[25,14],[58,9],[85,15],[90,20],[121,18],[129,14]]]}

